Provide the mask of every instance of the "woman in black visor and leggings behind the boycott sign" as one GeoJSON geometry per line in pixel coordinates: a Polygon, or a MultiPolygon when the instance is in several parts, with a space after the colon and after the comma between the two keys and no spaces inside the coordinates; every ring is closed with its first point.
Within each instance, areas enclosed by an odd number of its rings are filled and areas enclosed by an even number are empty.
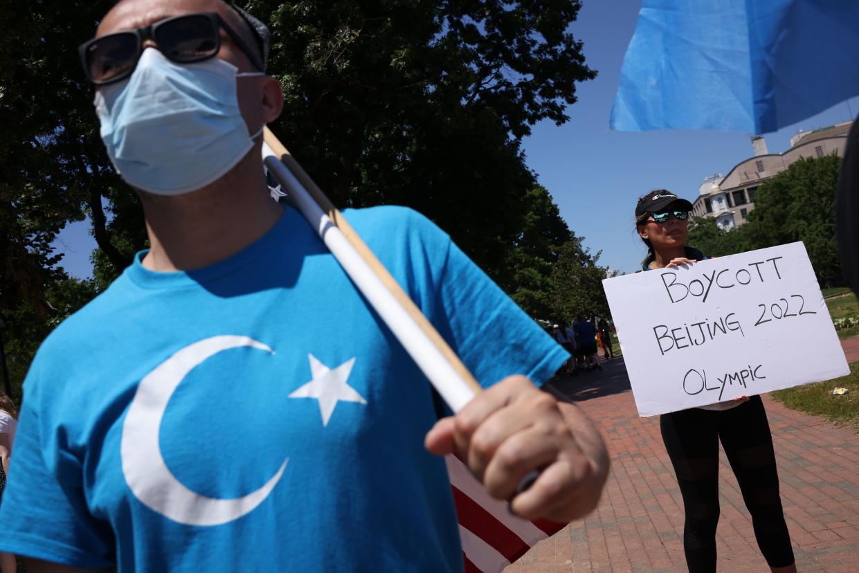
{"type": "MultiPolygon", "coordinates": [[[[648,247],[643,271],[691,265],[705,259],[698,249],[685,244],[691,208],[689,201],[664,189],[638,200],[636,230],[648,247]]],[[[760,396],[740,396],[663,414],[660,427],[683,495],[683,546],[689,570],[716,571],[721,440],[767,564],[773,571],[795,571],[778,492],[770,425],[760,396]]]]}

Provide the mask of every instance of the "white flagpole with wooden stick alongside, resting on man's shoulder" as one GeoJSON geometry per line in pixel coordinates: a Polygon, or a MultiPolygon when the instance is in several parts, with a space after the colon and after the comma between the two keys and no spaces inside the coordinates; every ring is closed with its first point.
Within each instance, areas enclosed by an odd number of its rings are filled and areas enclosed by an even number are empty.
{"type": "Polygon", "coordinates": [[[459,358],[430,324],[430,321],[423,317],[414,302],[411,302],[411,299],[405,295],[399,285],[396,285],[393,277],[387,273],[387,270],[384,270],[384,267],[381,267],[381,263],[375,259],[375,255],[369,251],[360,237],[345,222],[340,212],[334,209],[327,199],[324,200],[323,204],[328,203],[326,205],[329,207],[328,214],[322,210],[320,204],[317,203],[318,198],[314,199],[311,196],[313,191],[321,194],[318,187],[308,190],[305,185],[302,185],[298,176],[311,184],[312,181],[268,128],[265,129],[263,162],[265,167],[286,189],[289,198],[295,202],[302,216],[316,229],[317,234],[320,235],[346,274],[355,283],[362,295],[367,298],[376,313],[381,316],[381,319],[391,329],[400,344],[403,344],[405,351],[417,363],[418,368],[423,371],[430,383],[436,387],[451,410],[460,411],[462,406],[466,405],[476,393],[481,391],[478,382],[474,380],[459,358]],[[280,148],[278,150],[281,153],[278,155],[272,147],[280,148]],[[294,174],[284,164],[288,159],[294,164],[293,169],[297,173],[294,174]],[[332,218],[338,224],[335,224],[332,218]],[[348,238],[347,234],[350,235],[348,238]],[[366,252],[362,253],[362,251],[366,252]],[[369,253],[369,257],[367,253],[369,253]],[[379,270],[379,267],[382,271],[379,270]],[[394,287],[391,285],[392,281],[394,287]],[[397,290],[399,290],[400,296],[397,296],[397,290]],[[403,300],[403,297],[407,302],[403,300]],[[410,305],[411,308],[409,308],[410,305]],[[430,332],[427,331],[428,327],[430,332]]]}

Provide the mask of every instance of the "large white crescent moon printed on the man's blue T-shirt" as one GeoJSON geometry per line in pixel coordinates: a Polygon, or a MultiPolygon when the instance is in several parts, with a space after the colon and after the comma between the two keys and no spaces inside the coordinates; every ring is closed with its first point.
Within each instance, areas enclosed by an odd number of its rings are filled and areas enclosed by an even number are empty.
{"type": "Polygon", "coordinates": [[[206,358],[241,346],[274,354],[265,344],[246,336],[213,336],[189,344],[143,377],[125,414],[120,445],[125,483],[149,509],[173,521],[212,526],[240,518],[268,497],[289,461],[289,458],[283,460],[280,469],[259,490],[247,496],[222,499],[189,490],[170,472],[161,456],[158,443],[161,420],[176,387],[206,358]]]}

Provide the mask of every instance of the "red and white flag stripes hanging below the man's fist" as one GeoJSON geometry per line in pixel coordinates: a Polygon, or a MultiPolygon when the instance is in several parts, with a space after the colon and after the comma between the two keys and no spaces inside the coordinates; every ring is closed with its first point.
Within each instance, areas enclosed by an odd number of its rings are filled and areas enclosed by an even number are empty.
{"type": "Polygon", "coordinates": [[[459,458],[449,454],[445,461],[454,490],[466,573],[499,573],[540,539],[566,526],[512,515],[507,502],[491,497],[459,458]]]}

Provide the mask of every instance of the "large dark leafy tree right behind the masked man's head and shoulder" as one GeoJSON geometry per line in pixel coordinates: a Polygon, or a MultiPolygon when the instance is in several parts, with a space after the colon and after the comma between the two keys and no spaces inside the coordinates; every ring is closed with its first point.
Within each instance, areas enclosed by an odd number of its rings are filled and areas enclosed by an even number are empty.
{"type": "Polygon", "coordinates": [[[405,204],[503,283],[535,180],[521,138],[593,78],[580,4],[253,0],[275,36],[273,126],[340,207],[405,204]]]}

